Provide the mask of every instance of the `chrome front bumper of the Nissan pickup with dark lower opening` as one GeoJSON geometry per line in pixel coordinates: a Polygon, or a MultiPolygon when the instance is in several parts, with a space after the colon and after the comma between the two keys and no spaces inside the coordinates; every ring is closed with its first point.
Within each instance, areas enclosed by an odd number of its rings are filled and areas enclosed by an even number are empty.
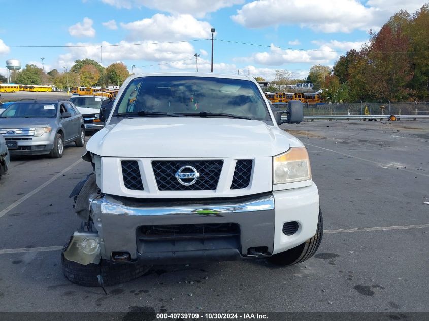
{"type": "Polygon", "coordinates": [[[91,203],[101,256],[146,264],[236,260],[273,252],[274,197],[162,202],[105,195],[91,203]]]}

